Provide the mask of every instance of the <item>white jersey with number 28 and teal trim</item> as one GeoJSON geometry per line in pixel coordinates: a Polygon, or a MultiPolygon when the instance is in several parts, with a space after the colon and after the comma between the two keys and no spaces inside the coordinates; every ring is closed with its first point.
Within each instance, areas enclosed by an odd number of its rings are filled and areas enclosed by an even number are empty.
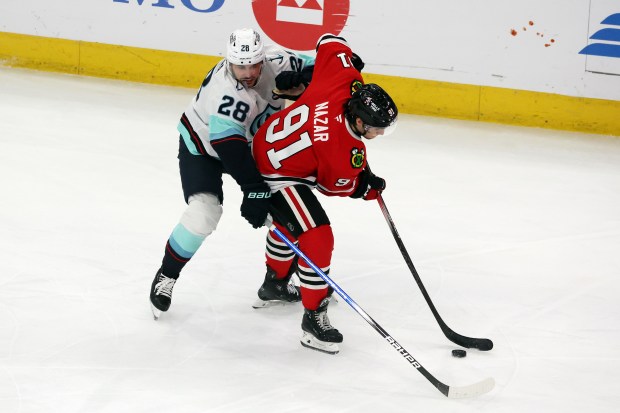
{"type": "Polygon", "coordinates": [[[284,108],[285,101],[272,92],[275,77],[314,64],[313,57],[271,45],[265,52],[262,72],[253,88],[235,80],[225,59],[207,74],[177,127],[192,154],[219,159],[211,143],[232,136],[245,137],[249,145],[267,117],[284,108]]]}

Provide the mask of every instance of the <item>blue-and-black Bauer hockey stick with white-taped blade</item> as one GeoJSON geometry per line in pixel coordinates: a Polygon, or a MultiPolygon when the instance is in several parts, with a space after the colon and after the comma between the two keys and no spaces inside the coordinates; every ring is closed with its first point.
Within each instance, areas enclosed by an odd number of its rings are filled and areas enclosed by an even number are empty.
{"type": "Polygon", "coordinates": [[[276,233],[276,235],[286,244],[290,249],[292,249],[295,254],[297,254],[301,259],[303,259],[313,270],[317,273],[319,277],[321,277],[330,287],[334,289],[341,296],[347,304],[349,304],[359,315],[362,316],[364,320],[368,322],[380,335],[383,337],[401,356],[405,358],[413,367],[415,367],[428,381],[431,382],[433,386],[435,386],[441,393],[443,393],[446,397],[451,399],[461,399],[465,397],[476,397],[481,394],[488,393],[495,386],[495,380],[492,377],[489,377],[485,380],[482,380],[478,383],[471,384],[469,386],[448,386],[447,384],[442,383],[437,380],[435,376],[429,373],[420,362],[418,362],[413,355],[411,355],[403,346],[401,346],[392,336],[388,334],[387,331],[383,329],[375,320],[373,320],[368,313],[366,313],[347,293],[345,293],[338,284],[336,284],[327,274],[325,274],[319,267],[317,267],[310,259],[299,249],[297,246],[292,243],[286,235],[282,233],[275,225],[272,224],[271,219],[267,218],[266,224],[269,226],[269,230],[276,233]]]}

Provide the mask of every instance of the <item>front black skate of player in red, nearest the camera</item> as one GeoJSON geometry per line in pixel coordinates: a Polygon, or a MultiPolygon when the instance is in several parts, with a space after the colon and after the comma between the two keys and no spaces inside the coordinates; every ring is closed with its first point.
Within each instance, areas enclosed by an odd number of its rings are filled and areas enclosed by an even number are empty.
{"type": "Polygon", "coordinates": [[[324,353],[337,354],[340,351],[338,343],[342,343],[342,334],[329,322],[328,305],[329,299],[325,298],[316,310],[304,309],[301,345],[324,353]]]}

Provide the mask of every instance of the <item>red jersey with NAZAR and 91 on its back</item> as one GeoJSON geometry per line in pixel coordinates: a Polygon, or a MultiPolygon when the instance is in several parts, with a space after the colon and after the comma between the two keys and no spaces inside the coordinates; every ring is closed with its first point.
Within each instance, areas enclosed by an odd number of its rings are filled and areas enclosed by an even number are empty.
{"type": "Polygon", "coordinates": [[[351,54],[343,38],[324,35],[306,91],[271,115],[254,136],[256,166],[272,192],[299,184],[329,196],[355,191],[366,147],[344,117],[346,103],[362,86],[351,54]]]}

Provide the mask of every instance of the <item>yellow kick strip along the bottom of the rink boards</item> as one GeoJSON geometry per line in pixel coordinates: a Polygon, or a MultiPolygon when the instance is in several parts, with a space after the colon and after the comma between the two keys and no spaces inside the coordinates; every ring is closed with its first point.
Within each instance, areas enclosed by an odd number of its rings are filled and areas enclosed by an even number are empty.
{"type": "MultiPolygon", "coordinates": [[[[0,32],[0,65],[195,88],[221,57],[0,32]]],[[[620,136],[620,102],[364,73],[402,113],[620,136]]]]}

